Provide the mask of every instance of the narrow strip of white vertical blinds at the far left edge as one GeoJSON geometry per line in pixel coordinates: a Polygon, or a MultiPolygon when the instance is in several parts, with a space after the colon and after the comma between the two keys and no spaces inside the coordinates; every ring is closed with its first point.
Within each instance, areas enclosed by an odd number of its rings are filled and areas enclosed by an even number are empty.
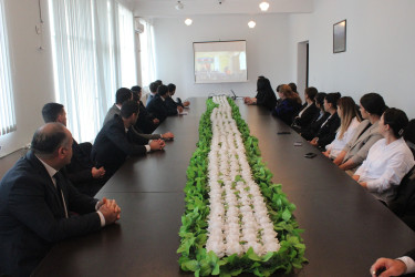
{"type": "Polygon", "coordinates": [[[0,135],[15,131],[14,104],[10,75],[9,42],[3,0],[0,0],[0,135]]]}

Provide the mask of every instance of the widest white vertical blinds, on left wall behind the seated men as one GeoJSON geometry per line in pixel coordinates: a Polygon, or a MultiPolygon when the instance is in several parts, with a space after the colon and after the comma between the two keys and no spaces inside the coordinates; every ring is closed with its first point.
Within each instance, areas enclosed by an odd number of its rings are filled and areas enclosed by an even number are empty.
{"type": "Polygon", "coordinates": [[[126,75],[135,73],[124,70],[129,65],[121,55],[121,45],[129,43],[128,25],[134,35],[133,17],[124,20],[125,8],[114,0],[50,0],[49,4],[58,102],[66,109],[72,135],[92,141],[122,80],[133,83],[136,78],[126,75]]]}

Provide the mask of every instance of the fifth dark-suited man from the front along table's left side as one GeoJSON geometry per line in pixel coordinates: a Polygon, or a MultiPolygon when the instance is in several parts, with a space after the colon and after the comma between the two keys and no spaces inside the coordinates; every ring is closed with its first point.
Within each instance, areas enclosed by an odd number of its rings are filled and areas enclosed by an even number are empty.
{"type": "Polygon", "coordinates": [[[133,92],[133,100],[136,101],[139,105],[139,116],[135,127],[142,130],[145,134],[151,134],[154,130],[157,129],[160,121],[147,112],[147,109],[144,106],[142,99],[142,88],[134,85],[131,88],[133,92]]]}

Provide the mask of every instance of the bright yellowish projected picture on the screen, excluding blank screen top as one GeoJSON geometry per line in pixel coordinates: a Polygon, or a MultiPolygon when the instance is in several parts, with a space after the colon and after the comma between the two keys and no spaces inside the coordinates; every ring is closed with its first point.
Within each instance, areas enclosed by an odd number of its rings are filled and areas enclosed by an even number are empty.
{"type": "Polygon", "coordinates": [[[196,82],[240,82],[247,80],[245,52],[200,52],[195,54],[196,82]]]}

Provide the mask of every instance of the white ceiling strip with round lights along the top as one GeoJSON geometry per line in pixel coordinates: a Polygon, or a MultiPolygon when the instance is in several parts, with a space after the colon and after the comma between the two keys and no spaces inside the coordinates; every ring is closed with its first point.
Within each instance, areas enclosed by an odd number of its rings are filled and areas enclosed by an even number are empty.
{"type": "Polygon", "coordinates": [[[269,10],[262,12],[262,0],[180,0],[181,10],[176,10],[177,0],[129,0],[136,17],[172,18],[196,14],[258,14],[312,12],[313,0],[267,0],[269,10]],[[221,3],[219,3],[221,1],[221,3]]]}

